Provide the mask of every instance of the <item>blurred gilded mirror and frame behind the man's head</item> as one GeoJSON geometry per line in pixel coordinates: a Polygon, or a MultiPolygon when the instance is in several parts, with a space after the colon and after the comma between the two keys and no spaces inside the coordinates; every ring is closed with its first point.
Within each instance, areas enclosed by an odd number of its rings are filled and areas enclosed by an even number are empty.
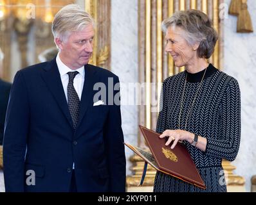
{"type": "MultiPolygon", "coordinates": [[[[96,37],[91,63],[105,68],[111,63],[111,1],[82,0],[96,20],[96,37]]],[[[0,47],[5,54],[0,77],[12,81],[17,70],[39,63],[39,54],[55,47],[51,33],[53,16],[66,4],[81,0],[5,0],[0,1],[0,47]],[[2,4],[3,2],[4,4],[2,4]]],[[[81,3],[80,3],[81,4],[81,3]]]]}

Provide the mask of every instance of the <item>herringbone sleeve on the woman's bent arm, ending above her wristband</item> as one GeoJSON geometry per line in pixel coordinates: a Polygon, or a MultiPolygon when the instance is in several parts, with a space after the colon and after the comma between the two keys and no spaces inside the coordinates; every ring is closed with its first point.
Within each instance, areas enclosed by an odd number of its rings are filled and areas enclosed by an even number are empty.
{"type": "Polygon", "coordinates": [[[221,133],[218,139],[206,136],[205,154],[228,161],[235,160],[241,137],[241,94],[237,81],[227,83],[221,103],[221,133]]]}

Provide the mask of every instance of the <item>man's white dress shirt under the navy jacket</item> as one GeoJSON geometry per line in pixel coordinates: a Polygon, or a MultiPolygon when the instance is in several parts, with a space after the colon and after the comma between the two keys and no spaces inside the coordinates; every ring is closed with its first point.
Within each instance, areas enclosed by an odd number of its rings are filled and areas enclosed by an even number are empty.
{"type": "MultiPolygon", "coordinates": [[[[68,102],[68,81],[69,81],[68,72],[75,72],[75,71],[79,72],[77,76],[75,76],[74,78],[73,85],[75,87],[75,91],[77,92],[79,99],[81,100],[82,91],[84,87],[84,74],[85,74],[84,66],[80,67],[80,69],[77,69],[77,70],[69,69],[69,67],[66,66],[60,60],[59,53],[57,55],[56,62],[60,72],[60,78],[61,78],[62,86],[66,95],[67,102],[68,102]]],[[[75,163],[73,163],[73,169],[75,169],[75,163]]]]}

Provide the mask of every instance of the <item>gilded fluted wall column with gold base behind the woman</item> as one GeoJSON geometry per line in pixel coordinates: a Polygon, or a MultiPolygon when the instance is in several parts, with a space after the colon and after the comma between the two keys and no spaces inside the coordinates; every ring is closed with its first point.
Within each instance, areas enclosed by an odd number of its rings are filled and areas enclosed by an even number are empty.
{"type": "MultiPolygon", "coordinates": [[[[161,31],[161,22],[163,19],[172,15],[177,10],[186,10],[194,8],[202,10],[210,16],[214,24],[214,28],[219,33],[219,41],[215,46],[215,51],[209,62],[215,67],[222,67],[223,59],[223,19],[221,19],[221,4],[223,1],[196,1],[196,0],[139,0],[138,19],[139,19],[139,81],[140,83],[147,83],[145,88],[145,104],[140,106],[139,109],[139,124],[148,127],[149,129],[156,129],[156,122],[158,118],[159,102],[161,86],[160,84],[164,79],[178,72],[183,71],[185,68],[178,68],[174,66],[172,58],[165,54],[165,37],[161,31]],[[155,83],[153,88],[150,83],[155,83]],[[156,100],[157,99],[157,100],[156,100]],[[152,102],[156,102],[152,104],[152,102]],[[157,109],[156,109],[157,107],[157,109]]],[[[161,84],[160,84],[161,85],[161,84]]],[[[138,145],[142,148],[148,149],[145,145],[143,136],[138,132],[138,145]]],[[[143,160],[138,156],[131,156],[130,160],[133,162],[131,170],[133,176],[127,177],[127,186],[130,190],[140,182],[143,170],[143,160]]],[[[228,161],[223,161],[223,167],[228,172],[228,190],[233,191],[233,187],[238,186],[244,190],[244,179],[240,176],[235,176],[232,172],[235,169],[228,161]]],[[[152,186],[154,181],[155,170],[149,166],[147,168],[147,176],[145,178],[144,186],[152,186]]],[[[134,191],[134,190],[133,190],[134,191]]]]}

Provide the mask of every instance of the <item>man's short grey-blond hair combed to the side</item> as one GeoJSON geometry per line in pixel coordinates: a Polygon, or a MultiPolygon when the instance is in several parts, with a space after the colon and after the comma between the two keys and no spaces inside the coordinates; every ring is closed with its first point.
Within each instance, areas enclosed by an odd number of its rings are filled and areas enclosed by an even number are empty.
{"type": "Polygon", "coordinates": [[[95,27],[95,21],[78,4],[64,6],[56,13],[51,30],[55,38],[66,40],[73,31],[81,31],[87,25],[95,27]]]}

